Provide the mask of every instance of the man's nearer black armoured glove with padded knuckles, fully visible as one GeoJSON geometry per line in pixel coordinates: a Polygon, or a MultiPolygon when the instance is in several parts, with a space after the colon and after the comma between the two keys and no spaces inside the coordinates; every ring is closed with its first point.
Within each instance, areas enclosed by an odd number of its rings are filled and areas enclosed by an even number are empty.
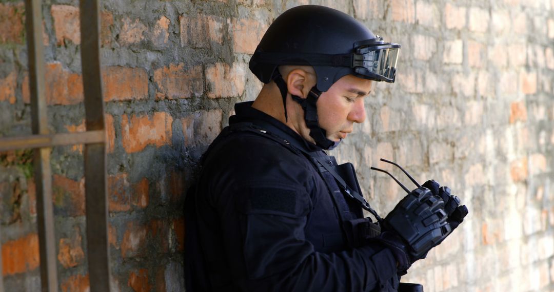
{"type": "Polygon", "coordinates": [[[399,274],[418,259],[425,258],[450,234],[444,202],[425,187],[404,197],[383,220],[381,236],[376,239],[391,249],[398,261],[399,274]]]}

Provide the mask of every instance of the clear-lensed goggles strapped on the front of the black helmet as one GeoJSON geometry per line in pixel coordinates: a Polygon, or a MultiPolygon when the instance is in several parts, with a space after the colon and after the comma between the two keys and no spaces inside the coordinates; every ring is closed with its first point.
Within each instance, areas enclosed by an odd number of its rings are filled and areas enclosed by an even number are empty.
{"type": "Polygon", "coordinates": [[[384,43],[383,38],[358,41],[354,44],[352,67],[358,75],[377,81],[394,82],[400,44],[384,43]]]}

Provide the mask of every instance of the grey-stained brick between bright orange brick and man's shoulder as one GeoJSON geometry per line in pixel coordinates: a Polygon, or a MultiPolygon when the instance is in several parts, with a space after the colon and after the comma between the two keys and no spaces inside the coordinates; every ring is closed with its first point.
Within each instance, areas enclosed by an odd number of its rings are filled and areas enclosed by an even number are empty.
{"type": "Polygon", "coordinates": [[[208,144],[221,132],[223,111],[198,111],[181,119],[184,134],[184,144],[208,144]]]}

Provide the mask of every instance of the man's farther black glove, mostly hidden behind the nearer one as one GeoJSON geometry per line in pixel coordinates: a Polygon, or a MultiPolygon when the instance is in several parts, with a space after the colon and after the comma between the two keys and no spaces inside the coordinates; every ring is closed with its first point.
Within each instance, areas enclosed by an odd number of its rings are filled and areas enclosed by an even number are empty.
{"type": "Polygon", "coordinates": [[[440,186],[439,183],[435,180],[425,181],[423,184],[424,187],[427,187],[433,195],[439,196],[440,199],[444,201],[444,211],[447,212],[448,218],[447,222],[452,227],[452,231],[464,221],[464,217],[468,215],[468,207],[465,205],[460,206],[460,199],[458,196],[454,196],[450,193],[450,187],[440,186]]]}

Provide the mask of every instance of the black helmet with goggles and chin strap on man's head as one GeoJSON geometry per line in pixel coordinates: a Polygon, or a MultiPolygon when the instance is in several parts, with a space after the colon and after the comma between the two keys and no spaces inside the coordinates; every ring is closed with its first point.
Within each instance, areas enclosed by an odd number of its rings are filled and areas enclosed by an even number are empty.
{"type": "Polygon", "coordinates": [[[291,8],[275,19],[254,51],[249,67],[260,81],[276,82],[283,95],[283,105],[286,84],[275,69],[279,65],[314,67],[317,83],[309,96],[306,99],[293,96],[293,99],[304,103],[306,124],[316,144],[329,149],[334,142],[326,139],[314,112],[321,92],[349,74],[394,82],[399,50],[399,44],[385,43],[350,15],[324,6],[305,5],[291,8]]]}

